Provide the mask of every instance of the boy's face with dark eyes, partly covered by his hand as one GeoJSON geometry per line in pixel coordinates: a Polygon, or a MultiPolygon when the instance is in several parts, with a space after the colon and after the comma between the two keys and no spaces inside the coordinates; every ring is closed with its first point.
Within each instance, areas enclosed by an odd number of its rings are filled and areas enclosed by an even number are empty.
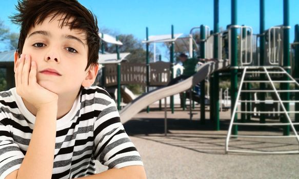
{"type": "MultiPolygon", "coordinates": [[[[37,83],[58,95],[78,93],[90,77],[85,71],[88,58],[86,33],[68,26],[59,27],[56,16],[31,27],[25,39],[23,54],[30,55],[37,64],[37,83]]],[[[97,70],[97,69],[96,69],[97,70]]],[[[91,85],[91,84],[90,84],[91,85]]]]}

